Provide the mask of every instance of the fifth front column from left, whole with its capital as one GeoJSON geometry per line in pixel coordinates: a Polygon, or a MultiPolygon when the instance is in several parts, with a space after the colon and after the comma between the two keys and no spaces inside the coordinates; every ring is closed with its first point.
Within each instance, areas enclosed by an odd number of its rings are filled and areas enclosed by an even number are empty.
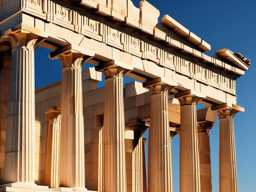
{"type": "Polygon", "coordinates": [[[180,103],[180,192],[200,192],[196,105],[206,96],[187,90],[174,97],[180,103]]]}

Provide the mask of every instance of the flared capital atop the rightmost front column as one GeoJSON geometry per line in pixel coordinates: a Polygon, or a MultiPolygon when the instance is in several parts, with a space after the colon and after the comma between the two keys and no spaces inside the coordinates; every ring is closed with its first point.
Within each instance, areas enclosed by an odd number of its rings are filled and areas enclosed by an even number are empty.
{"type": "Polygon", "coordinates": [[[211,106],[212,111],[216,111],[219,119],[231,118],[233,119],[238,112],[244,112],[244,108],[231,103],[223,103],[220,105],[211,106]]]}

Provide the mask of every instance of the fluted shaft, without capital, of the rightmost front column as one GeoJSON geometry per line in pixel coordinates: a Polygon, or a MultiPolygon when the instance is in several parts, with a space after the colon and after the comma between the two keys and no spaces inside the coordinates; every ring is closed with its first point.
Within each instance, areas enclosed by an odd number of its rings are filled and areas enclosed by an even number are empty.
{"type": "Polygon", "coordinates": [[[220,192],[237,192],[233,118],[220,119],[220,192]]]}

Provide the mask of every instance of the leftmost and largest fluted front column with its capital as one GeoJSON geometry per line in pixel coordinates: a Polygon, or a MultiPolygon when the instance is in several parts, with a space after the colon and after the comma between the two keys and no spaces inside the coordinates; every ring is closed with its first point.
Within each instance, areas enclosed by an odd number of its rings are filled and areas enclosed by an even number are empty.
{"type": "Polygon", "coordinates": [[[19,32],[1,38],[12,47],[3,183],[36,185],[34,52],[47,36],[19,32]]]}

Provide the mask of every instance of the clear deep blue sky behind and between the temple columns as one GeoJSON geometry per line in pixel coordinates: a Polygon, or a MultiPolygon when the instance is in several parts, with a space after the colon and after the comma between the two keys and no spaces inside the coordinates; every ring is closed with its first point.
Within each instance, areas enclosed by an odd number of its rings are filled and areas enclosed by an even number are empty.
{"type": "MultiPolygon", "coordinates": [[[[245,108],[245,112],[238,113],[234,118],[238,190],[240,192],[256,191],[256,125],[255,107],[256,73],[255,43],[255,1],[244,0],[196,0],[196,1],[168,1],[148,0],[160,10],[160,19],[168,14],[194,34],[211,45],[211,51],[206,54],[213,56],[214,52],[228,48],[239,52],[251,59],[251,66],[244,76],[236,82],[237,105],[245,108]]],[[[139,7],[139,0],[133,0],[139,7]]],[[[35,88],[61,80],[62,66],[58,60],[50,60],[50,50],[39,47],[35,53],[35,88]]],[[[92,67],[85,64],[83,68],[92,67]]],[[[125,78],[124,82],[133,81],[125,78]]],[[[104,86],[104,81],[98,83],[104,86]]],[[[198,109],[204,108],[198,105],[198,109]]],[[[148,132],[145,133],[148,136],[148,132]]],[[[219,191],[219,123],[210,132],[211,163],[212,163],[212,191],[219,191]]],[[[173,155],[173,183],[174,192],[179,191],[179,137],[172,142],[173,155]]]]}

